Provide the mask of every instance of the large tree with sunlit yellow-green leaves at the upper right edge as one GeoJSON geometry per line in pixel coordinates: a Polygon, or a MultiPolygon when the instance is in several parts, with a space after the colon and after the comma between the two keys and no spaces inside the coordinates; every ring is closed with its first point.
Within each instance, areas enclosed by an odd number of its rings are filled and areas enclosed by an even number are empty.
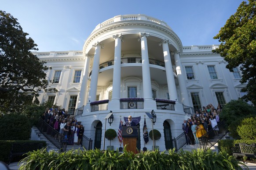
{"type": "Polygon", "coordinates": [[[219,33],[213,37],[219,39],[219,53],[228,62],[227,68],[233,72],[240,67],[241,83],[247,83],[242,92],[247,95],[242,99],[256,105],[256,1],[243,1],[234,15],[231,15],[219,33]]]}

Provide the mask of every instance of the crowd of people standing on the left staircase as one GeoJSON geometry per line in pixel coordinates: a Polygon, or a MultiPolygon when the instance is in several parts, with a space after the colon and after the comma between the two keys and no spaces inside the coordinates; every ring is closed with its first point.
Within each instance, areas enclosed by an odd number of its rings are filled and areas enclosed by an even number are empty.
{"type": "MultiPolygon", "coordinates": [[[[68,145],[81,145],[82,137],[84,135],[84,126],[77,122],[74,116],[67,114],[65,109],[46,108],[42,115],[42,119],[52,128],[62,134],[67,140],[68,145]]],[[[55,135],[58,138],[58,134],[55,135]]]]}

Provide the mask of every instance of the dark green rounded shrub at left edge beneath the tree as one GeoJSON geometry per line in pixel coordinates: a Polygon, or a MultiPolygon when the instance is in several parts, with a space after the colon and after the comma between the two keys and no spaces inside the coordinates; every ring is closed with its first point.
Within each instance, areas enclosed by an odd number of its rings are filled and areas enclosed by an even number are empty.
{"type": "Polygon", "coordinates": [[[1,140],[29,140],[31,124],[29,119],[20,114],[6,114],[0,119],[1,140]]]}

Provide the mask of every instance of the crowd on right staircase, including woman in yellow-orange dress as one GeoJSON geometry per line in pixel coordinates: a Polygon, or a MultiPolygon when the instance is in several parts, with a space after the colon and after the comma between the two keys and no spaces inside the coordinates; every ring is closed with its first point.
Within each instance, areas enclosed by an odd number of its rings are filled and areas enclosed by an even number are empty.
{"type": "Polygon", "coordinates": [[[219,114],[221,112],[222,106],[220,104],[218,104],[217,108],[212,106],[212,104],[208,104],[196,111],[193,116],[184,120],[182,129],[187,145],[198,145],[198,138],[205,135],[212,128],[214,134],[217,135],[219,133],[219,127],[217,125],[220,122],[219,114]]]}

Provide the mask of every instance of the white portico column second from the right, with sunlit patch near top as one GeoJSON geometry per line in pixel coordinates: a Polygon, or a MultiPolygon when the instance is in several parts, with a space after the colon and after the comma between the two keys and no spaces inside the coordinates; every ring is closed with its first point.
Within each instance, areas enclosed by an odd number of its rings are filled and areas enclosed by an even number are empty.
{"type": "Polygon", "coordinates": [[[171,61],[171,55],[169,52],[168,44],[169,44],[169,40],[166,40],[166,39],[163,39],[159,43],[160,46],[162,45],[163,52],[164,52],[165,71],[166,71],[166,77],[167,77],[169,97],[170,97],[170,100],[177,100],[176,102],[178,102],[178,95],[177,95],[175,80],[174,80],[173,71],[172,71],[172,61],[171,61]]]}

